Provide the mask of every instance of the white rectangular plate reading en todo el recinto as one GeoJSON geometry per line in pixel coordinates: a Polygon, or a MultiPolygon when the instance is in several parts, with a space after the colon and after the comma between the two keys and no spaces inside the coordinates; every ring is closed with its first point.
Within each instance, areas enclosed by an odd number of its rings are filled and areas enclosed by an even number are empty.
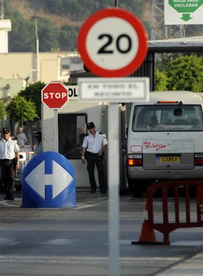
{"type": "Polygon", "coordinates": [[[77,79],[80,101],[149,101],[149,77],[81,77],[77,79]]]}

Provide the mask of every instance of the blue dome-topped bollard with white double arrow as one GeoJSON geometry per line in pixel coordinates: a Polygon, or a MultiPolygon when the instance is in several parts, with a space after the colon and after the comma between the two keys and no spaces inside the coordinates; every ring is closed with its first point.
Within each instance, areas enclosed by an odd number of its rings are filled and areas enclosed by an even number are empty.
{"type": "Polygon", "coordinates": [[[46,151],[33,157],[23,177],[23,208],[76,206],[75,172],[62,154],[46,151]]]}

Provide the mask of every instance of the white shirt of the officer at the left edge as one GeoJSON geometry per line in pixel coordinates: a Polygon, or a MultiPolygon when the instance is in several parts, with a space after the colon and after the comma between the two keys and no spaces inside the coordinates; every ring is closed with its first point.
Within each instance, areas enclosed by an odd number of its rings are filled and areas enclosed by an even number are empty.
{"type": "Polygon", "coordinates": [[[16,140],[11,138],[6,142],[4,139],[0,140],[0,159],[13,159],[16,157],[16,151],[20,151],[16,140]]]}

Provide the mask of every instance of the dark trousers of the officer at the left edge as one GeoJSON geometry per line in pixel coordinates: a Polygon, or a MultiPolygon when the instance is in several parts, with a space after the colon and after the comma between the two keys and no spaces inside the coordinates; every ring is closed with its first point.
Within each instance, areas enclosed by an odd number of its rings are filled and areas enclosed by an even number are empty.
{"type": "Polygon", "coordinates": [[[8,199],[13,199],[14,180],[15,180],[15,163],[14,160],[0,160],[1,174],[5,189],[5,196],[8,199]]]}

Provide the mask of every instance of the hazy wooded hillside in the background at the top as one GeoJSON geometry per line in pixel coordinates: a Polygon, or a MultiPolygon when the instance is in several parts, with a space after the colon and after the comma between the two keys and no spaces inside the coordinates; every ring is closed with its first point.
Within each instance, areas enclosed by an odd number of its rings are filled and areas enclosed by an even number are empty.
{"type": "MultiPolygon", "coordinates": [[[[151,0],[118,0],[119,7],[134,13],[151,33],[151,0]]],[[[78,30],[95,11],[114,7],[115,0],[6,0],[4,18],[11,19],[9,51],[35,51],[35,19],[39,50],[77,50],[78,30]]],[[[199,35],[201,26],[186,29],[187,35],[199,35]]]]}

